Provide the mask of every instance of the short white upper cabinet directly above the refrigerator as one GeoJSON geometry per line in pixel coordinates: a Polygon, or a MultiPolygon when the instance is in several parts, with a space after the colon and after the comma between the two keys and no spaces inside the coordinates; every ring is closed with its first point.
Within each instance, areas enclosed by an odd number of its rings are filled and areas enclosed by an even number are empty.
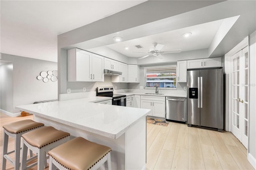
{"type": "Polygon", "coordinates": [[[205,59],[192,59],[187,61],[187,69],[208,68],[208,67],[221,67],[221,57],[205,58],[205,59]]]}

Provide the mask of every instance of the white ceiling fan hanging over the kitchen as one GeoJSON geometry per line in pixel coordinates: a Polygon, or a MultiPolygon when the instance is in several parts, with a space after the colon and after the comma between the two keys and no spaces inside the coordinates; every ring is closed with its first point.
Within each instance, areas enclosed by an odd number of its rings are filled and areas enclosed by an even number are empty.
{"type": "Polygon", "coordinates": [[[163,56],[161,54],[180,53],[181,52],[181,49],[161,51],[161,49],[164,47],[163,44],[158,44],[157,42],[154,42],[153,45],[154,45],[154,48],[151,48],[149,52],[134,51],[134,53],[148,53],[146,56],[143,56],[138,59],[143,59],[143,58],[146,58],[149,56],[155,56],[159,59],[163,59],[163,56]]]}

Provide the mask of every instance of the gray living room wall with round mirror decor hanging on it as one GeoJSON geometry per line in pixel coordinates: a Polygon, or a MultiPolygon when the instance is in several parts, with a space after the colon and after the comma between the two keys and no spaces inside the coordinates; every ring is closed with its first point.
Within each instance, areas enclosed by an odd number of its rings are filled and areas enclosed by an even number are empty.
{"type": "MultiPolygon", "coordinates": [[[[16,105],[32,104],[34,101],[57,99],[57,82],[44,83],[36,79],[41,71],[57,70],[57,63],[27,57],[2,54],[2,60],[13,63],[13,112],[16,105]]],[[[1,79],[2,82],[2,79],[1,79]]],[[[1,93],[2,100],[2,93],[1,93]]],[[[5,108],[1,104],[1,109],[5,108]]]]}

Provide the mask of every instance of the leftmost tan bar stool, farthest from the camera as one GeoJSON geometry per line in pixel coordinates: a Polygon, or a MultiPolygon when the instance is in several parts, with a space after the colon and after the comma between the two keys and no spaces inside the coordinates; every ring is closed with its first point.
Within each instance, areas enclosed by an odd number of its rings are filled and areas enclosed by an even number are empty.
{"type": "MultiPolygon", "coordinates": [[[[21,120],[11,124],[3,125],[3,157],[2,169],[6,169],[6,160],[14,165],[14,169],[19,169],[20,159],[20,137],[28,131],[44,126],[44,124],[32,120],[21,120]],[[15,138],[15,149],[8,151],[9,136],[15,138]],[[11,159],[9,154],[15,152],[15,160],[11,159]]],[[[32,152],[30,154],[32,156],[32,152]]]]}

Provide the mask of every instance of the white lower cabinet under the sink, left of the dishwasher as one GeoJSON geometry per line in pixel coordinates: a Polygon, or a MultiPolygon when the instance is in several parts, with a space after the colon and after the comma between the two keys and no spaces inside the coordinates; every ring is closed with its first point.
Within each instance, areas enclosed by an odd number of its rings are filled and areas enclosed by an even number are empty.
{"type": "Polygon", "coordinates": [[[151,109],[149,116],[165,117],[166,102],[162,96],[141,96],[141,108],[151,109]]]}

